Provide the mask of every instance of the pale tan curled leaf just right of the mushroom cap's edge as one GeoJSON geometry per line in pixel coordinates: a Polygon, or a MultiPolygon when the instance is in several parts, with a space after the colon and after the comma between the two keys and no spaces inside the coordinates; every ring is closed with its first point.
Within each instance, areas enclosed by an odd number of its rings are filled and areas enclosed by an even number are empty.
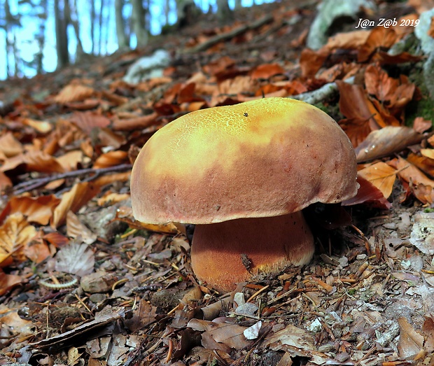
{"type": "Polygon", "coordinates": [[[398,153],[422,139],[422,134],[409,127],[388,126],[372,131],[365,141],[356,147],[357,161],[365,162],[398,153]]]}

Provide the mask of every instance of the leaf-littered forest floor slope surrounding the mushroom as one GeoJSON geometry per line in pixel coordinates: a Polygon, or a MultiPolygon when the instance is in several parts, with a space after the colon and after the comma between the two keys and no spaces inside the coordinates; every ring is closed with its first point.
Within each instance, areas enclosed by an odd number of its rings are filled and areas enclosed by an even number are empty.
{"type": "Polygon", "coordinates": [[[0,365],[434,365],[425,58],[386,53],[414,27],[356,29],[423,9],[377,6],[337,18],[318,51],[306,47],[316,3],[281,1],[1,83],[0,365]],[[158,48],[171,56],[162,74],[126,83],[158,48]],[[185,228],[134,221],[132,163],[189,111],[294,95],[356,147],[352,223],[311,222],[309,265],[218,293],[195,279],[185,228]]]}

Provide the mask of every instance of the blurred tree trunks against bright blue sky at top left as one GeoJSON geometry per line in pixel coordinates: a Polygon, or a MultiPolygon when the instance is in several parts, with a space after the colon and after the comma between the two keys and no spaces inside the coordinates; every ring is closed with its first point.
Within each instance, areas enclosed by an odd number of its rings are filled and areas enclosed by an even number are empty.
{"type": "MultiPolygon", "coordinates": [[[[54,71],[85,57],[143,47],[213,12],[262,0],[0,0],[0,80],[54,71]]],[[[265,1],[267,2],[267,1],[265,1]]]]}

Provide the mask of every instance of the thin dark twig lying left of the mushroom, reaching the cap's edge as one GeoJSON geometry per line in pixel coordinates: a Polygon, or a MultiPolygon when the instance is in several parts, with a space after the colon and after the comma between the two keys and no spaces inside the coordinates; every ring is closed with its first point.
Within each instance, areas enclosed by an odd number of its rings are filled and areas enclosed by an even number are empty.
{"type": "Polygon", "coordinates": [[[132,164],[119,164],[114,167],[100,168],[100,169],[78,169],[74,171],[66,171],[65,173],[54,174],[52,176],[44,176],[43,178],[32,179],[31,181],[22,182],[13,188],[14,195],[22,195],[22,193],[29,192],[30,190],[34,190],[39,188],[45,184],[48,184],[52,181],[57,181],[59,179],[71,178],[75,176],[80,176],[82,174],[94,174],[94,176],[90,176],[86,179],[86,181],[92,181],[99,176],[111,173],[113,171],[125,171],[132,168],[132,164]]]}

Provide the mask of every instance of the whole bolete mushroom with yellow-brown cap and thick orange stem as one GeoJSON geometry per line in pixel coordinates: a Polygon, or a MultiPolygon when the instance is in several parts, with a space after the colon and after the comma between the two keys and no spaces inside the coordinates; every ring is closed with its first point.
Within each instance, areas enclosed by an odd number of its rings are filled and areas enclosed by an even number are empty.
{"type": "Polygon", "coordinates": [[[301,210],[356,195],[356,170],[329,115],[294,99],[256,99],[155,132],[132,169],[132,210],[145,223],[195,224],[193,272],[228,291],[309,262],[314,238],[301,210]]]}

